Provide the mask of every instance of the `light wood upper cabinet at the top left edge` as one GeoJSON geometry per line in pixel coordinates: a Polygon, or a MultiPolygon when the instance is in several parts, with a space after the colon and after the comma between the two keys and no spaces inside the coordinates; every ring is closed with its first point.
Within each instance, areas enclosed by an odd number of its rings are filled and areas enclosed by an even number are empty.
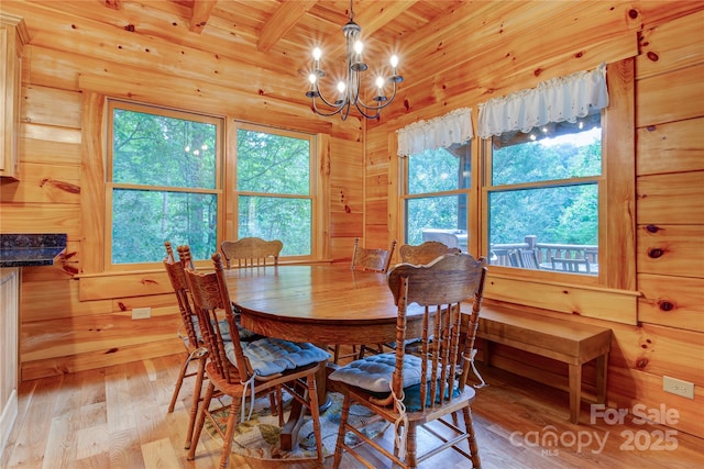
{"type": "Polygon", "coordinates": [[[22,90],[22,48],[28,42],[24,20],[0,13],[0,177],[9,179],[20,177],[18,122],[22,90]]]}

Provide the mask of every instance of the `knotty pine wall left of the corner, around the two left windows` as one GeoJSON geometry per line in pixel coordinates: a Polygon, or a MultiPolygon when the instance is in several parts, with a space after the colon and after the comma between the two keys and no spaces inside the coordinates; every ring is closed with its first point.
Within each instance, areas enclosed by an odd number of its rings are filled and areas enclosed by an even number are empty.
{"type": "MultiPolygon", "coordinates": [[[[317,134],[319,176],[327,188],[322,257],[351,256],[354,238],[363,235],[359,119],[324,120],[308,105],[233,89],[232,75],[263,83],[276,78],[226,56],[218,57],[223,72],[212,74],[211,54],[197,43],[105,29],[51,7],[2,4],[3,11],[24,19],[31,40],[23,56],[18,130],[21,178],[0,186],[1,230],[68,235],[58,265],[23,269],[22,380],[183,350],[176,335],[180,319],[163,269],[110,272],[103,266],[106,97],[224,116],[228,164],[233,120],[317,134]],[[131,310],[143,306],[152,308],[152,317],[133,321],[131,310]]],[[[101,2],[80,7],[119,14],[101,2]]],[[[232,213],[226,220],[227,238],[234,236],[232,213]]]]}

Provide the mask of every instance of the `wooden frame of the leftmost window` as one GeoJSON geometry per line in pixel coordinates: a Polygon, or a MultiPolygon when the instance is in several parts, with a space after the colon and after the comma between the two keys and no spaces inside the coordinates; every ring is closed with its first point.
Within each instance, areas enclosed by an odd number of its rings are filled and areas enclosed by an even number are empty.
{"type": "MultiPolygon", "coordinates": [[[[222,241],[223,231],[223,172],[222,160],[226,146],[226,120],[221,116],[209,115],[205,113],[198,113],[187,110],[177,110],[173,108],[165,108],[156,104],[146,104],[134,101],[127,101],[122,99],[108,98],[107,100],[107,115],[106,115],[106,185],[105,185],[105,203],[106,203],[106,219],[105,219],[105,270],[106,271],[134,271],[153,269],[161,264],[160,260],[153,263],[134,263],[134,264],[113,264],[112,263],[112,193],[114,189],[127,190],[150,190],[150,191],[169,191],[179,193],[206,193],[216,196],[217,201],[217,226],[216,226],[216,250],[220,249],[220,243],[222,241]],[[215,188],[212,189],[199,189],[199,188],[179,188],[179,187],[166,187],[166,186],[142,186],[134,183],[113,182],[112,180],[112,142],[113,142],[113,110],[121,109],[127,111],[134,111],[154,115],[162,115],[167,118],[188,120],[194,122],[202,122],[212,124],[216,126],[216,158],[215,158],[215,188]]],[[[164,250],[166,253],[166,250],[164,250]]],[[[209,259],[198,259],[194,264],[196,266],[207,266],[209,259]]]]}

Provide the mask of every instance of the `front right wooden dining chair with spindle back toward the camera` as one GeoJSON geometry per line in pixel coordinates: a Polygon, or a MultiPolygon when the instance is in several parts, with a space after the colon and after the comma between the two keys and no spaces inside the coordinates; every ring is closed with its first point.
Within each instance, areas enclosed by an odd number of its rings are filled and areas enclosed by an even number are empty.
{"type": "MultiPolygon", "coordinates": [[[[473,467],[480,467],[471,413],[475,391],[468,386],[468,375],[486,271],[484,258],[450,254],[425,266],[400,264],[388,272],[388,287],[398,306],[396,344],[400,345],[395,353],[365,357],[330,375],[329,379],[338,382],[345,397],[334,468],[340,467],[343,451],[369,468],[375,467],[373,462],[364,460],[363,455],[370,454],[367,449],[358,451],[358,447],[345,443],[348,432],[404,468],[416,468],[425,459],[448,448],[464,455],[473,467]],[[473,304],[469,327],[463,344],[460,344],[460,306],[463,301],[471,299],[473,304]],[[406,314],[410,308],[420,309],[418,313],[424,314],[420,357],[407,355],[403,346],[406,314]],[[353,403],[367,407],[395,425],[393,454],[367,437],[359,425],[349,423],[353,403]],[[448,420],[457,411],[462,412],[464,427],[448,420]],[[432,448],[424,445],[422,455],[417,454],[419,426],[429,428],[429,435],[438,436],[438,445],[432,448]],[[439,427],[442,429],[438,431],[439,427]],[[469,451],[459,446],[464,440],[469,443],[469,451]]],[[[369,421],[374,422],[373,418],[369,421]]]]}

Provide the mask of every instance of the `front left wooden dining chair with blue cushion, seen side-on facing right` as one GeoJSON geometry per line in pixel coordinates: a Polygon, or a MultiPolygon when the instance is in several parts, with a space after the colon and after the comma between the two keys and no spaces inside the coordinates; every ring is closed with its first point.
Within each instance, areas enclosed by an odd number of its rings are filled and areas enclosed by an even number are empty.
{"type": "MultiPolygon", "coordinates": [[[[206,362],[208,388],[198,410],[194,440],[199,440],[206,418],[208,418],[222,437],[220,468],[227,468],[238,414],[242,410],[244,415],[246,398],[250,397],[252,400],[250,405],[253,405],[255,398],[271,395],[283,388],[298,404],[307,407],[312,416],[318,451],[316,459],[318,464],[322,464],[322,437],[316,375],[324,369],[330,354],[311,344],[290,343],[270,337],[245,343],[240,340],[238,334],[232,334],[231,340],[228,342],[223,337],[226,331],[220,326],[220,321],[224,319],[229,330],[234,331],[237,319],[228,292],[222,256],[219,253],[212,255],[215,271],[197,272],[189,266],[190,250],[188,246],[178,247],[178,253],[185,261],[186,282],[208,348],[206,362]],[[232,399],[228,409],[224,431],[218,425],[210,409],[212,398],[216,394],[232,399]]],[[[280,400],[278,414],[280,424],[283,415],[280,400]]],[[[196,446],[190,446],[188,460],[195,459],[196,446]]]]}

